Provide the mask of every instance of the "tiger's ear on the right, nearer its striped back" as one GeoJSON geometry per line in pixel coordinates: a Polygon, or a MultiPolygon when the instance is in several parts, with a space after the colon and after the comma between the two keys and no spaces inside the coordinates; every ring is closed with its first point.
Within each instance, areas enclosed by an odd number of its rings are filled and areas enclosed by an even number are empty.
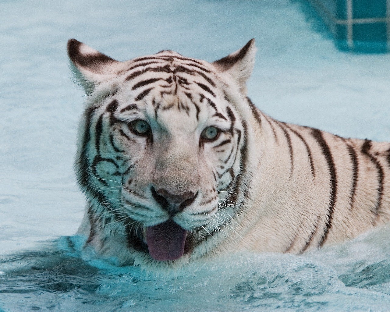
{"type": "Polygon", "coordinates": [[[213,65],[218,71],[230,74],[240,89],[246,93],[245,83],[252,74],[256,51],[255,39],[251,39],[241,49],[213,62],[213,65]]]}

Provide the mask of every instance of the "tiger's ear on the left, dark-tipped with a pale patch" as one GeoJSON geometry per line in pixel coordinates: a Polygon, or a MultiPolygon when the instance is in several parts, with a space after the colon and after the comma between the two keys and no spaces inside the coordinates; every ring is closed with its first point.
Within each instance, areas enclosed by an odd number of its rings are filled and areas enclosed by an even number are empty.
{"type": "Polygon", "coordinates": [[[69,39],[67,51],[76,81],[87,94],[90,94],[97,84],[113,78],[123,64],[76,39],[69,39]]]}

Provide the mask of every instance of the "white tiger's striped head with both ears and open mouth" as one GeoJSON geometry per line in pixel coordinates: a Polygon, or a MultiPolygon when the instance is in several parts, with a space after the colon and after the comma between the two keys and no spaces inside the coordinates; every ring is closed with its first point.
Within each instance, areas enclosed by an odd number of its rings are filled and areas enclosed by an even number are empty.
{"type": "Polygon", "coordinates": [[[160,265],[218,244],[244,196],[255,50],[252,39],[213,63],[173,51],[119,62],[69,40],[87,94],[76,171],[90,241],[117,235],[131,260],[160,265]]]}

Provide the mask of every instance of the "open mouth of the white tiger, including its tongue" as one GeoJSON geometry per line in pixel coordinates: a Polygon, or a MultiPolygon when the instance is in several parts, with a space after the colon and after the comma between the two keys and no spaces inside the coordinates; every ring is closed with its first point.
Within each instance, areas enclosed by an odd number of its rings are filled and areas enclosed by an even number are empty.
{"type": "Polygon", "coordinates": [[[195,247],[191,232],[172,220],[152,227],[138,227],[129,234],[133,234],[133,248],[149,254],[156,261],[177,260],[195,247]]]}

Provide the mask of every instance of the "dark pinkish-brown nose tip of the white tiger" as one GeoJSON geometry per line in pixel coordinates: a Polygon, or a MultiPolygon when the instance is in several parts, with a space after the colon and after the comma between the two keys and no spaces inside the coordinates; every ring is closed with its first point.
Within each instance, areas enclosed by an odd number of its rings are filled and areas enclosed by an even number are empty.
{"type": "Polygon", "coordinates": [[[154,200],[167,211],[171,216],[182,211],[185,207],[190,206],[198,193],[186,192],[183,194],[172,194],[163,188],[156,190],[152,187],[152,195],[154,200]]]}

